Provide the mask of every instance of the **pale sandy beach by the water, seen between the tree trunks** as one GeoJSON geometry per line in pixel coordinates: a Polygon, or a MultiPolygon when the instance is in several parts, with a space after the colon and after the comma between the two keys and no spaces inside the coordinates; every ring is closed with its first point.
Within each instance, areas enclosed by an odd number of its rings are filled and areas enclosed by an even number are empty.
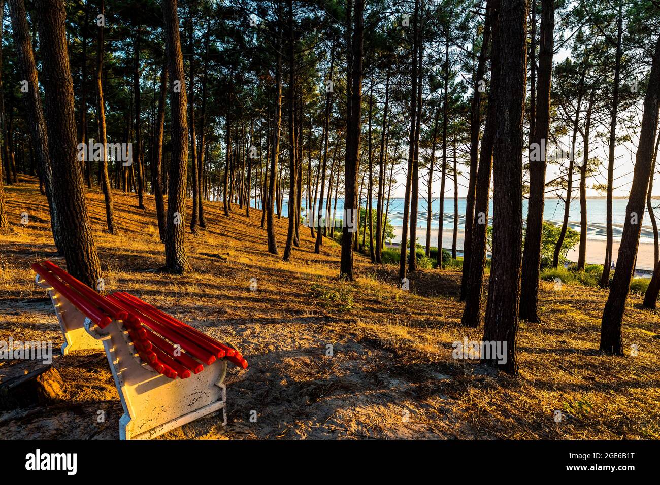
{"type": "MultiPolygon", "coordinates": [[[[401,242],[401,227],[394,228],[395,238],[392,241],[393,243],[401,242]]],[[[442,247],[445,249],[451,250],[451,240],[453,238],[453,226],[444,228],[442,234],[442,247]]],[[[422,246],[426,245],[426,227],[417,228],[417,241],[422,246]]],[[[435,247],[438,243],[438,230],[437,228],[431,230],[431,246],[435,247]]],[[[589,239],[587,238],[587,263],[588,264],[603,264],[605,259],[605,240],[601,239],[589,239]]],[[[616,265],[616,255],[618,254],[619,242],[614,241],[614,247],[612,249],[612,256],[614,259],[614,264],[616,265]]],[[[463,250],[463,230],[459,229],[456,238],[456,249],[457,251],[463,250]]],[[[570,261],[578,260],[578,245],[575,249],[568,251],[566,255],[570,261]]],[[[647,242],[640,242],[640,248],[637,255],[637,266],[636,269],[644,271],[653,271],[653,244],[647,242]]]]}

